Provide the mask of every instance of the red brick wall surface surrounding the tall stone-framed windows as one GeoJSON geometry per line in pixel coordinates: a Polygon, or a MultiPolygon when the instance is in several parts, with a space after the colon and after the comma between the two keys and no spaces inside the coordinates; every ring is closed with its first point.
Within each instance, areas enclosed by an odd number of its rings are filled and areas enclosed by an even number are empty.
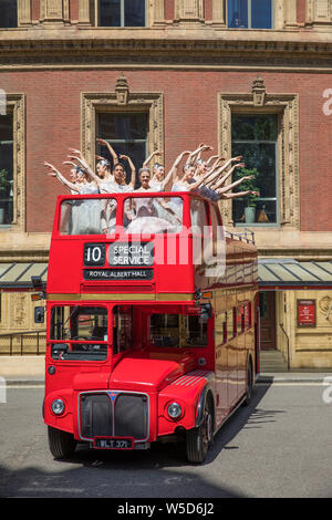
{"type": "MultiPolygon", "coordinates": [[[[60,169],[68,147],[80,147],[81,92],[112,92],[121,71],[46,71],[1,74],[1,89],[27,95],[27,229],[50,231],[55,197],[64,188],[45,175],[60,169]]],[[[205,142],[218,149],[217,95],[247,93],[256,73],[126,71],[132,92],[163,92],[168,167],[184,149],[205,142]]],[[[303,231],[332,231],[332,115],[323,114],[329,74],[261,73],[268,93],[300,96],[300,208],[303,231]]],[[[332,105],[331,105],[332,106],[332,105]]]]}

